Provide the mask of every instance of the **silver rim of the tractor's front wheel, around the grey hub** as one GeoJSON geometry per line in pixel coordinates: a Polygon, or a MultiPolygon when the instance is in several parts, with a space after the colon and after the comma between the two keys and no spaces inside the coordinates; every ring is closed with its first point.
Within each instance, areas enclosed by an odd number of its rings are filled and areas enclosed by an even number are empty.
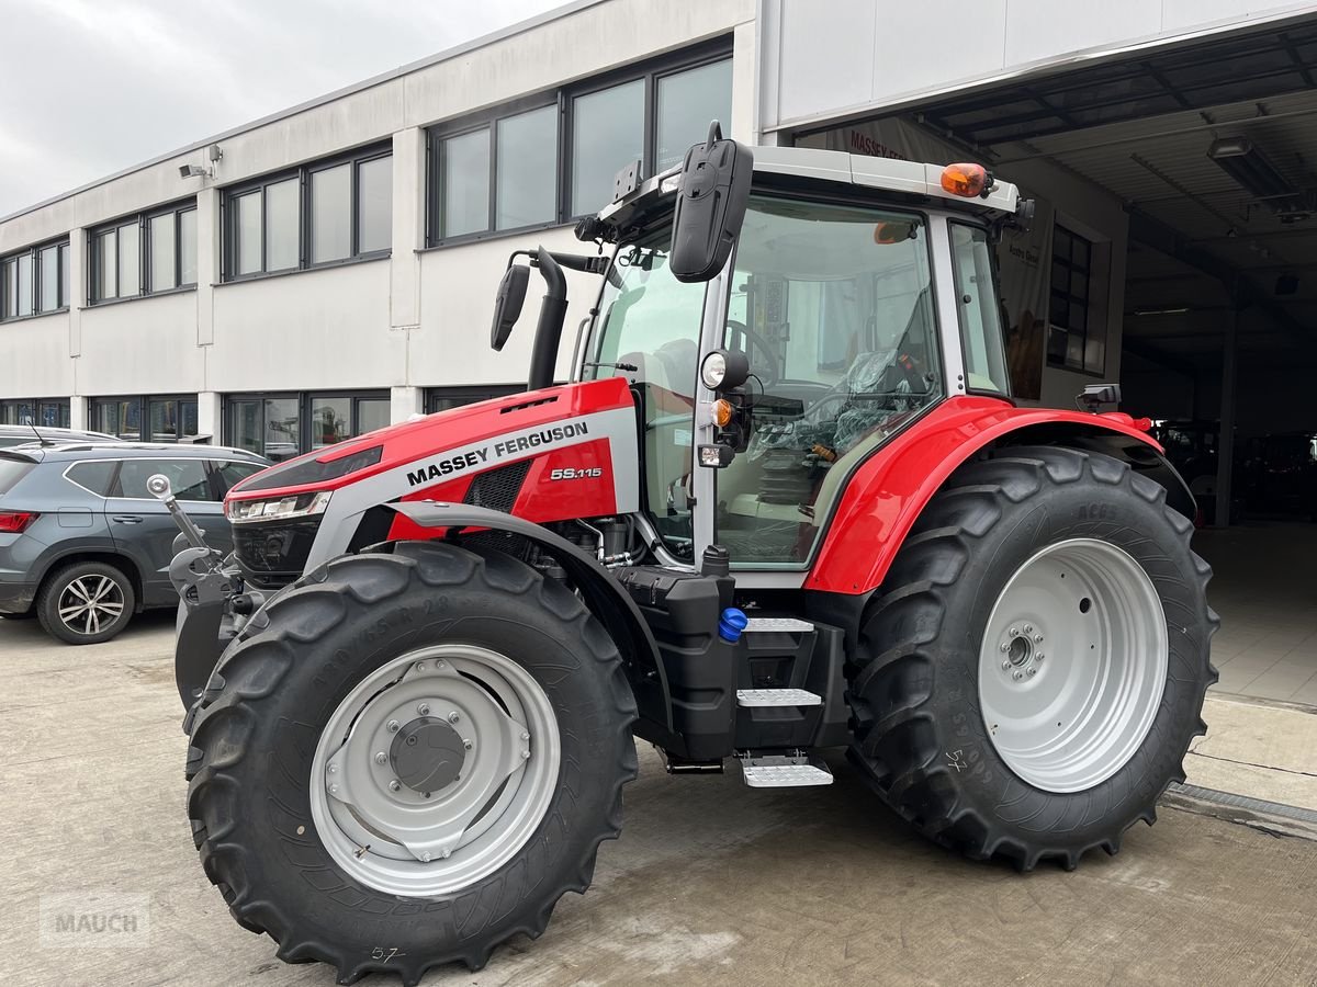
{"type": "Polygon", "coordinates": [[[338,704],[311,763],[311,819],[362,884],[441,895],[525,845],[560,761],[553,707],[525,669],[486,647],[436,645],[389,662],[338,704]],[[428,795],[404,784],[391,759],[417,729],[441,732],[461,751],[445,767],[456,779],[428,795]]]}

